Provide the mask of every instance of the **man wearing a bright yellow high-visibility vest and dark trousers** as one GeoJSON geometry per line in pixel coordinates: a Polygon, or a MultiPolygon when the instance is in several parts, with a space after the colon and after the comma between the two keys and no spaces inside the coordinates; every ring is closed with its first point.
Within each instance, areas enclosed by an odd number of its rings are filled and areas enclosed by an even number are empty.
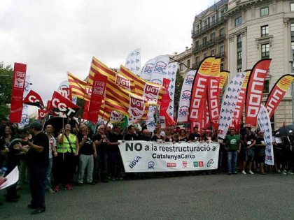
{"type": "Polygon", "coordinates": [[[71,180],[76,170],[76,156],[80,149],[78,138],[70,133],[71,125],[66,124],[57,137],[57,158],[55,163],[55,192],[59,184],[65,184],[66,190],[71,190],[71,180]]]}

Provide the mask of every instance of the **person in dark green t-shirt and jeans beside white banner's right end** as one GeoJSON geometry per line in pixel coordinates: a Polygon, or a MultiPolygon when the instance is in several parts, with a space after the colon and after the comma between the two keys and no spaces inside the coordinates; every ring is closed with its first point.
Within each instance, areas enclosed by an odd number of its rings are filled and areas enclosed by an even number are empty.
{"type": "Polygon", "coordinates": [[[225,149],[228,151],[228,175],[236,175],[237,154],[240,152],[241,144],[235,128],[230,129],[230,135],[225,139],[225,149]]]}

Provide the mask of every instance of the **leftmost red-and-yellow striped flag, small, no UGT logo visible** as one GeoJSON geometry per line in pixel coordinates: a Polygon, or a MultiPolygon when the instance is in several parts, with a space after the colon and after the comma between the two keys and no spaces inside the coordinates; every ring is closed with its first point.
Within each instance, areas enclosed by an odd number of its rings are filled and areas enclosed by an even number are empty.
{"type": "Polygon", "coordinates": [[[90,94],[87,93],[87,82],[80,80],[69,72],[67,72],[67,78],[69,80],[69,88],[71,88],[72,95],[90,101],[90,94]]]}

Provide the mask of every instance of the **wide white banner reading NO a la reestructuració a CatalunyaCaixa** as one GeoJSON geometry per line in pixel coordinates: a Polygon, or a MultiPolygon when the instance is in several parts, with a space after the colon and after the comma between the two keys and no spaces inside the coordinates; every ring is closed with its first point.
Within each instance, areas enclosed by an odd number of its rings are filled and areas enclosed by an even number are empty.
{"type": "Polygon", "coordinates": [[[125,172],[214,170],[219,143],[126,141],[119,145],[125,172]]]}

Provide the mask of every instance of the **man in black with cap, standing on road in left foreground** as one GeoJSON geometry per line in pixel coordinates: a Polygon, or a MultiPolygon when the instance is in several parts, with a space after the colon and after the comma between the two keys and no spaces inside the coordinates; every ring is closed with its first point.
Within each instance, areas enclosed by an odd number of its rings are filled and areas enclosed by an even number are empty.
{"type": "Polygon", "coordinates": [[[27,163],[29,166],[31,179],[29,186],[31,189],[31,203],[29,208],[34,209],[31,214],[45,212],[45,176],[49,163],[49,138],[42,132],[42,126],[39,122],[32,122],[29,125],[29,131],[32,135],[31,141],[27,142],[29,148],[23,147],[18,143],[14,147],[27,152],[27,163]]]}

